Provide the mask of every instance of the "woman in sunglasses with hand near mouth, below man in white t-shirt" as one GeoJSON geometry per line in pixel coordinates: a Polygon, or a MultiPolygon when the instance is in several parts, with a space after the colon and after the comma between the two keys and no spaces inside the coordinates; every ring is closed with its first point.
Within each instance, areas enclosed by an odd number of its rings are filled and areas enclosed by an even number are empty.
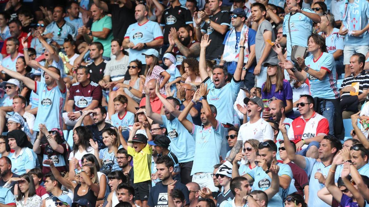
{"type": "Polygon", "coordinates": [[[256,152],[259,150],[259,141],[249,139],[245,141],[242,152],[239,152],[233,160],[233,168],[238,169],[232,171],[232,178],[242,176],[256,167],[256,152]],[[238,164],[240,164],[238,166],[238,164]]]}

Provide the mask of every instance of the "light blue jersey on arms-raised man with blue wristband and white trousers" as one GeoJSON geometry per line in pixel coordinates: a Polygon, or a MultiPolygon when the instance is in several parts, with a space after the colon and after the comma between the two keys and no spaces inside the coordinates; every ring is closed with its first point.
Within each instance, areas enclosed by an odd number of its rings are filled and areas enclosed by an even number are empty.
{"type": "Polygon", "coordinates": [[[217,127],[204,128],[193,124],[192,137],[195,139],[195,155],[191,175],[198,172],[213,172],[219,163],[220,147],[225,128],[217,121],[217,127]]]}

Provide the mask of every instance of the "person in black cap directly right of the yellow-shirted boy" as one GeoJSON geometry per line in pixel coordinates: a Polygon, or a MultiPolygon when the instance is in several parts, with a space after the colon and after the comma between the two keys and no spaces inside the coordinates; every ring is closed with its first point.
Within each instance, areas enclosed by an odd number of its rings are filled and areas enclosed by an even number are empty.
{"type": "Polygon", "coordinates": [[[170,144],[170,139],[164,135],[156,135],[154,138],[154,141],[148,141],[147,143],[154,146],[154,149],[158,153],[158,157],[168,155],[168,157],[170,157],[170,159],[173,160],[174,168],[172,172],[172,177],[174,180],[181,182],[181,176],[180,176],[181,169],[179,167],[178,158],[173,152],[171,152],[168,149],[169,144],[170,144]]]}

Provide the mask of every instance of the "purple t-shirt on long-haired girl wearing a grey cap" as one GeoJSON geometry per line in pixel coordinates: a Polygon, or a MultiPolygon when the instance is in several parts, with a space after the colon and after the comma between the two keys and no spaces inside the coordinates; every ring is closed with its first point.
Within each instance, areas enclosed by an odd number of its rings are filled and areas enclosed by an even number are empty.
{"type": "MultiPolygon", "coordinates": [[[[272,87],[270,87],[270,92],[266,93],[263,91],[265,87],[265,83],[261,86],[261,97],[262,99],[268,99],[269,103],[272,102],[275,99],[280,99],[283,101],[284,105],[287,105],[286,100],[293,100],[293,93],[290,82],[283,79],[283,90],[276,92],[276,85],[272,84],[272,87]]],[[[294,119],[293,110],[286,113],[286,117],[290,119],[294,119]]]]}

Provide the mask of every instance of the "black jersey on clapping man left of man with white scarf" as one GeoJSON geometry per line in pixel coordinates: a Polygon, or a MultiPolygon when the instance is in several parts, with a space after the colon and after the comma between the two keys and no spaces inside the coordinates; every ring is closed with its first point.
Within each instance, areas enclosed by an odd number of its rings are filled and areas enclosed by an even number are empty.
{"type": "MultiPolygon", "coordinates": [[[[209,19],[217,24],[220,25],[227,25],[228,28],[230,27],[230,17],[228,15],[228,11],[220,11],[214,15],[211,15],[209,19]]],[[[201,27],[201,32],[205,32],[209,35],[209,39],[211,39],[211,44],[206,48],[206,59],[217,59],[222,56],[224,45],[223,40],[225,38],[224,35],[220,34],[219,32],[215,31],[213,27],[210,27],[206,22],[201,27]]]]}

